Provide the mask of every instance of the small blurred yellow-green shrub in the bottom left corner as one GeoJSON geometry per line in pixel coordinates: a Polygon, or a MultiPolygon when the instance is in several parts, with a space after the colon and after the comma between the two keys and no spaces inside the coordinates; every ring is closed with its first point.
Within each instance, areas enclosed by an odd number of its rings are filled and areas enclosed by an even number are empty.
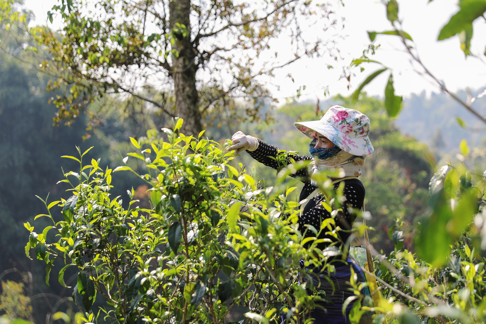
{"type": "Polygon", "coordinates": [[[30,318],[32,306],[30,298],[24,295],[24,284],[10,280],[2,281],[1,290],[0,310],[5,312],[4,316],[12,321],[30,318]]]}

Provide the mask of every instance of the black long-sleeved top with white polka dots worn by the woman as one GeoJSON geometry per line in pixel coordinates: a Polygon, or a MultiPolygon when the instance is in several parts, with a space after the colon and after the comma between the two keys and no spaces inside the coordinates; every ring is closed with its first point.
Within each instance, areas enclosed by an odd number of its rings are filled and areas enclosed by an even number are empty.
{"type": "MultiPolygon", "coordinates": [[[[248,152],[255,160],[263,163],[264,165],[277,169],[278,164],[277,161],[270,158],[269,156],[277,157],[278,148],[270,145],[262,140],[259,141],[259,147],[253,152],[248,152]]],[[[310,160],[311,157],[307,155],[297,155],[293,156],[295,162],[302,161],[302,160],[310,160]]],[[[306,199],[312,191],[314,191],[317,187],[311,185],[311,181],[308,174],[308,169],[304,168],[299,170],[297,173],[292,175],[293,177],[301,180],[304,183],[304,188],[300,192],[299,201],[306,199]]],[[[364,187],[361,181],[358,179],[347,179],[345,181],[345,188],[344,188],[344,196],[346,198],[345,205],[347,207],[352,207],[355,209],[361,209],[363,206],[364,201],[364,187]]],[[[339,187],[339,182],[334,184],[334,188],[339,187]]],[[[317,230],[321,227],[320,224],[322,220],[326,218],[330,218],[330,213],[324,209],[324,206],[321,205],[321,202],[325,202],[326,198],[320,194],[316,195],[312,198],[304,207],[302,215],[299,217],[299,228],[303,231],[305,230],[304,225],[310,224],[314,226],[317,230]]],[[[338,231],[338,239],[334,238],[331,235],[326,235],[325,230],[321,232],[321,235],[318,239],[330,239],[332,242],[341,242],[345,244],[345,246],[349,246],[348,240],[350,237],[350,230],[352,228],[355,215],[350,214],[348,212],[348,208],[343,208],[343,213],[336,215],[335,221],[336,226],[339,226],[341,229],[345,231],[338,231]]],[[[306,237],[314,237],[314,233],[312,231],[307,231],[306,237]]],[[[322,242],[317,244],[317,247],[321,250],[325,249],[329,245],[328,242],[322,242]]]]}

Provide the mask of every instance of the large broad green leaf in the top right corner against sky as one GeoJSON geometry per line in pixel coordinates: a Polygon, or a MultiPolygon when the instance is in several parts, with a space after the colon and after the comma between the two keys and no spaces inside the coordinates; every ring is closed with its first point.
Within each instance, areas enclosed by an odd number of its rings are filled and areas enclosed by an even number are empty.
{"type": "Polygon", "coordinates": [[[449,22],[442,28],[437,40],[443,40],[468,30],[472,22],[476,18],[481,17],[486,11],[486,1],[462,0],[459,1],[459,7],[459,12],[452,16],[449,22]]]}

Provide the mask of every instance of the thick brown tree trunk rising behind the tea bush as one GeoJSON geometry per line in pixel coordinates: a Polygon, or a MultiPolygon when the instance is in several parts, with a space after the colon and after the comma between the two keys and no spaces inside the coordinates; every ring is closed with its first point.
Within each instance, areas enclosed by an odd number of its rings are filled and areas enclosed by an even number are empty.
{"type": "Polygon", "coordinates": [[[184,119],[180,130],[184,135],[195,135],[203,130],[201,125],[201,112],[199,111],[199,95],[196,89],[196,71],[194,64],[197,49],[191,42],[191,0],[169,1],[169,22],[171,28],[178,30],[174,33],[175,42],[172,47],[178,55],[172,55],[176,115],[184,119]],[[184,36],[181,27],[186,26],[187,34],[184,36]]]}

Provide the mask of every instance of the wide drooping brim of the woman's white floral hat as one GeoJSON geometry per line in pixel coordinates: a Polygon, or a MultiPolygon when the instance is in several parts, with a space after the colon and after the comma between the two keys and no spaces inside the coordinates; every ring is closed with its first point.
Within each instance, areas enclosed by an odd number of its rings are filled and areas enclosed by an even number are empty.
{"type": "Polygon", "coordinates": [[[320,133],[336,144],[341,150],[353,155],[365,156],[374,151],[368,136],[348,136],[324,120],[296,122],[294,125],[305,136],[313,139],[315,132],[320,133]]]}

